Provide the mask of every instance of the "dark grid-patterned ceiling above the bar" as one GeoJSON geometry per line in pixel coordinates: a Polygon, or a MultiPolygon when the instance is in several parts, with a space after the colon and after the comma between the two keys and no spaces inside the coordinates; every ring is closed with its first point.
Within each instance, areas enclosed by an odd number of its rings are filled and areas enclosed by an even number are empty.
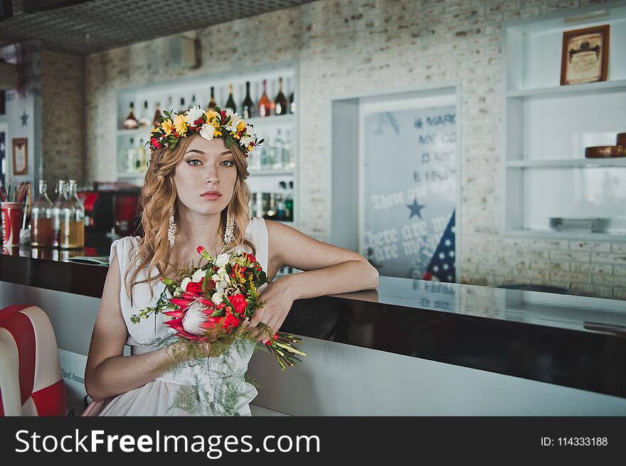
{"type": "Polygon", "coordinates": [[[39,40],[46,50],[89,55],[311,1],[90,0],[24,13],[22,0],[14,0],[14,16],[0,21],[0,46],[39,40]]]}

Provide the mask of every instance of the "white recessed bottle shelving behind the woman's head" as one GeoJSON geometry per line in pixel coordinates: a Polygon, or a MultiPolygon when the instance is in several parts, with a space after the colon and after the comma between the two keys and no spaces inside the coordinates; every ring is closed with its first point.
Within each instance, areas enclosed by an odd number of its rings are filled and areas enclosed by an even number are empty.
{"type": "MultiPolygon", "coordinates": [[[[221,109],[225,109],[231,92],[236,112],[240,115],[243,113],[243,105],[250,104],[250,101],[254,106],[254,112],[258,112],[260,101],[272,107],[276,100],[281,101],[283,97],[287,100],[287,108],[291,109],[289,105],[290,97],[295,97],[294,102],[296,105],[299,102],[297,74],[297,63],[285,62],[250,68],[238,67],[236,70],[227,70],[212,75],[203,75],[202,77],[189,76],[176,81],[155,82],[149,85],[127,87],[118,90],[116,96],[117,138],[115,139],[117,142],[117,166],[115,168],[117,179],[126,180],[137,185],[144,183],[145,172],[132,170],[134,166],[132,161],[135,159],[129,154],[129,149],[138,148],[142,139],[144,143],[149,141],[152,126],[137,129],[122,128],[122,121],[129,114],[129,104],[131,102],[134,104],[134,116],[139,120],[147,114],[147,112],[143,111],[144,102],[147,102],[147,108],[151,109],[152,116],[154,116],[154,110],[157,108],[167,109],[168,111],[172,107],[174,107],[174,111],[189,109],[192,99],[195,100],[196,104],[201,105],[202,108],[206,108],[212,95],[218,106],[221,109]],[[248,82],[250,82],[250,85],[247,85],[248,82]],[[279,95],[279,90],[282,92],[282,96],[279,95]],[[269,102],[262,97],[264,93],[269,98],[269,102]],[[245,97],[248,94],[250,99],[245,97]],[[185,105],[180,103],[181,99],[184,99],[185,105]]],[[[271,111],[273,113],[274,109],[271,111]]],[[[262,146],[255,148],[248,159],[250,176],[246,182],[250,192],[253,194],[275,193],[275,202],[278,203],[279,182],[285,182],[287,185],[290,183],[298,185],[297,113],[253,116],[250,119],[246,119],[246,121],[254,125],[258,139],[265,139],[262,146]],[[272,170],[272,167],[276,169],[272,170]],[[281,168],[278,169],[279,167],[281,168]],[[287,169],[287,167],[292,168],[287,169]]],[[[149,151],[147,151],[145,158],[149,158],[149,151]]],[[[299,215],[297,191],[292,191],[290,196],[292,201],[290,209],[292,215],[294,215],[293,221],[280,220],[280,222],[287,225],[295,225],[298,221],[297,215],[299,215]]],[[[265,205],[263,205],[265,210],[259,209],[258,204],[255,204],[254,209],[252,206],[249,207],[250,214],[252,215],[253,210],[255,210],[259,212],[258,216],[270,209],[269,206],[265,205]]],[[[277,204],[271,210],[276,212],[277,204]]],[[[285,217],[291,218],[288,215],[285,217]]],[[[276,221],[278,222],[279,220],[276,221]]]]}

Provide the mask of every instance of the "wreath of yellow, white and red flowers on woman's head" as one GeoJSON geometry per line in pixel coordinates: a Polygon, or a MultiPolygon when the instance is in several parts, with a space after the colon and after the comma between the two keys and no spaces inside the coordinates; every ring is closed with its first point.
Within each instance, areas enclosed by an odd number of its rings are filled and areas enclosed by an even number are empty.
{"type": "Polygon", "coordinates": [[[203,110],[198,105],[182,113],[164,111],[150,131],[150,141],[146,146],[152,150],[161,146],[174,148],[179,139],[196,133],[207,141],[221,137],[227,148],[230,148],[231,143],[235,143],[246,157],[265,141],[256,139],[253,124],[246,123],[232,110],[221,110],[220,107],[215,107],[215,110],[203,110]]]}

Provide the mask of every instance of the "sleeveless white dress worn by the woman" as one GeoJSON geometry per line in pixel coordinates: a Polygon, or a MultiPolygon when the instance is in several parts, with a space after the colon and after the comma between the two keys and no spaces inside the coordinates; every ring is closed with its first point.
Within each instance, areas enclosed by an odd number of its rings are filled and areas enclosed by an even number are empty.
{"type": "MultiPolygon", "coordinates": [[[[261,264],[262,269],[267,272],[267,227],[265,220],[261,217],[253,217],[246,229],[246,236],[255,244],[257,260],[261,264]]],[[[132,249],[139,246],[139,241],[140,237],[124,237],[115,240],[111,244],[109,259],[111,260],[113,258],[113,254],[117,254],[122,280],[124,279],[124,273],[126,273],[129,264],[129,254],[132,249]]],[[[238,246],[237,250],[245,250],[248,253],[252,252],[249,249],[243,249],[242,246],[238,246]]],[[[199,259],[200,256],[198,256],[198,260],[199,259]]],[[[197,263],[196,261],[196,264],[197,263]]],[[[147,278],[147,272],[148,268],[146,266],[142,271],[139,271],[136,281],[142,281],[144,278],[147,278]]],[[[127,280],[130,280],[131,274],[132,271],[129,273],[127,280]]],[[[265,286],[267,285],[262,286],[260,290],[265,288],[265,286]]],[[[151,299],[147,282],[135,285],[132,288],[133,305],[131,306],[122,283],[120,304],[124,322],[128,330],[126,344],[129,345],[131,354],[142,354],[152,351],[154,348],[150,347],[147,342],[154,340],[156,337],[174,333],[174,330],[163,325],[164,321],[169,319],[166,315],[158,314],[154,317],[151,316],[148,319],[142,319],[138,324],[131,323],[130,321],[131,315],[137,314],[139,310],[147,306],[154,306],[159,299],[161,291],[164,289],[163,283],[161,283],[158,278],[154,279],[154,272],[153,289],[154,298],[151,299]]],[[[224,352],[219,357],[210,358],[210,384],[207,384],[205,380],[201,385],[207,388],[210,386],[209,391],[213,391],[214,394],[220,394],[225,392],[226,389],[236,387],[236,392],[240,395],[236,399],[229,399],[228,407],[220,405],[221,398],[219,396],[211,396],[211,398],[215,400],[215,405],[213,405],[213,402],[203,403],[203,415],[220,416],[225,413],[234,413],[239,416],[251,416],[248,403],[257,396],[258,392],[255,386],[245,381],[244,375],[248,370],[248,362],[253,355],[255,346],[256,342],[240,340],[238,345],[233,345],[229,352],[224,352]]],[[[206,362],[207,359],[203,361],[206,362]]],[[[184,408],[171,408],[176,392],[179,389],[189,390],[193,386],[198,386],[198,384],[196,379],[194,379],[191,368],[186,367],[182,369],[182,371],[166,372],[137,389],[127,391],[97,403],[92,402],[85,410],[85,413],[83,413],[83,416],[197,415],[197,412],[189,412],[184,408]]],[[[191,390],[191,392],[193,392],[193,390],[191,390]]],[[[206,394],[206,392],[204,393],[206,394]]],[[[180,399],[180,397],[178,399],[180,399]]]]}

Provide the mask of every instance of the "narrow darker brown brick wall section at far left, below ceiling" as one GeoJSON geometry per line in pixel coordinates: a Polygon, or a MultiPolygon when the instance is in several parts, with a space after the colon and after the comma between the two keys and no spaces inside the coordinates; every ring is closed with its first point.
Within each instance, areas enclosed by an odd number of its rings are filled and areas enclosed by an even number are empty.
{"type": "Polygon", "coordinates": [[[58,180],[73,178],[79,185],[84,183],[83,64],[84,58],[77,55],[41,52],[42,173],[53,202],[58,180]]]}

